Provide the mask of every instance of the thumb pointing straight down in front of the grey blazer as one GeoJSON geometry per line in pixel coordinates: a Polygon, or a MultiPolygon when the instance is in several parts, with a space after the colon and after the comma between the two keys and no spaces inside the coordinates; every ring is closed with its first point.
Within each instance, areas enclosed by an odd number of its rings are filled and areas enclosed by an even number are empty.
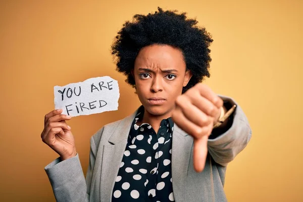
{"type": "Polygon", "coordinates": [[[205,135],[193,142],[193,167],[196,172],[201,172],[205,168],[207,157],[208,136],[205,135]]]}

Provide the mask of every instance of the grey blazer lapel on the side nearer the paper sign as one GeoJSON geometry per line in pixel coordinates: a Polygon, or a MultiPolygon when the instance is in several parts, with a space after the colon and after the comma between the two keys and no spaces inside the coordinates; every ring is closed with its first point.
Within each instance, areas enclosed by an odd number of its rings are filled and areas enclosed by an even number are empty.
{"type": "Polygon", "coordinates": [[[116,177],[123,158],[131,123],[138,109],[123,119],[109,138],[108,145],[103,149],[102,173],[100,182],[101,201],[111,201],[116,177]]]}

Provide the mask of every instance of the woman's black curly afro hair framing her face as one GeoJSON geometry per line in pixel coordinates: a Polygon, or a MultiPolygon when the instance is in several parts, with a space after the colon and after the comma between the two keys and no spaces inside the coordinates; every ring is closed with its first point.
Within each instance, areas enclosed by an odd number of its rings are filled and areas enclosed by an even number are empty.
{"type": "Polygon", "coordinates": [[[134,15],[133,21],[126,21],[118,32],[111,48],[117,71],[127,76],[125,80],[135,88],[135,80],[131,74],[135,59],[140,49],[152,44],[166,44],[179,48],[183,53],[186,70],[192,72],[188,84],[182,93],[210,77],[209,46],[212,36],[205,27],[199,27],[195,19],[187,19],[186,13],[177,14],[177,10],[163,11],[148,15],[134,15]]]}

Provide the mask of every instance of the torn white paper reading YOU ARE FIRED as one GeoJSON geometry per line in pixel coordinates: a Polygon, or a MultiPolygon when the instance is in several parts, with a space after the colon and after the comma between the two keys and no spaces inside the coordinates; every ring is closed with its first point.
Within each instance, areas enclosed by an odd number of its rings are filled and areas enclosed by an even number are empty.
{"type": "Polygon", "coordinates": [[[118,81],[109,76],[54,87],[55,109],[72,117],[118,110],[118,81]]]}

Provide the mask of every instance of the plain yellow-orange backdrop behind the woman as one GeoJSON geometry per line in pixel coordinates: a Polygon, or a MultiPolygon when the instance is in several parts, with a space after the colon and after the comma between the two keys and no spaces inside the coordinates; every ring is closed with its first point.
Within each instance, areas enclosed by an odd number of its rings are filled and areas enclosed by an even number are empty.
{"type": "Polygon", "coordinates": [[[303,1],[1,1],[0,201],[55,201],[44,166],[58,155],[41,141],[54,86],[111,76],[118,111],[69,125],[86,173],[89,138],[140,105],[115,71],[110,46],[126,20],[157,7],[187,12],[212,34],[211,78],[252,128],[226,172],[229,201],[303,201],[303,1]]]}

